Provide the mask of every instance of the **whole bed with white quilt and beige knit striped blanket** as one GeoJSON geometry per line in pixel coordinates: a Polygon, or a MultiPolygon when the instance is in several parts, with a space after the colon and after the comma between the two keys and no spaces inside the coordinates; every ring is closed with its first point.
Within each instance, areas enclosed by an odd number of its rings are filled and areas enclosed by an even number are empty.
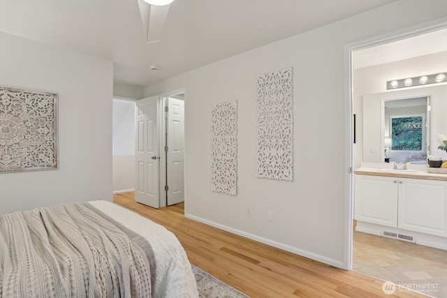
{"type": "Polygon", "coordinates": [[[0,215],[0,297],[198,297],[163,226],[108,201],[0,215]]]}

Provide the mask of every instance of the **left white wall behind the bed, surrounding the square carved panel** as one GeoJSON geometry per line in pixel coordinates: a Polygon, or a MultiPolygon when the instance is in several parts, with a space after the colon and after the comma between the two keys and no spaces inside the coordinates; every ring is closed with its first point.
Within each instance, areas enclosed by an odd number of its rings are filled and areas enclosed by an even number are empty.
{"type": "Polygon", "coordinates": [[[0,48],[0,84],[59,94],[59,169],[0,174],[0,214],[112,200],[112,62],[5,33],[0,48]]]}

